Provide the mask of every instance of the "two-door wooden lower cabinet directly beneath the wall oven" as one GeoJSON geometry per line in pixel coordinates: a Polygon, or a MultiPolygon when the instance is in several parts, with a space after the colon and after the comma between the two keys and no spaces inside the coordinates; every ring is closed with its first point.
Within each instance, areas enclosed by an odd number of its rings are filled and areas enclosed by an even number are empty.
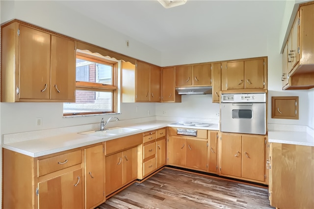
{"type": "Polygon", "coordinates": [[[266,137],[221,133],[220,175],[264,183],[266,137]]]}

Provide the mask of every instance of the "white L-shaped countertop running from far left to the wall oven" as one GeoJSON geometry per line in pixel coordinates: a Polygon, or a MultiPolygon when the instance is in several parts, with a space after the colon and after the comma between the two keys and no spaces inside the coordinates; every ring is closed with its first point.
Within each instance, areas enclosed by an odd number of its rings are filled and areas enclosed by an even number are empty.
{"type": "MultiPolygon", "coordinates": [[[[26,154],[31,157],[39,157],[69,149],[84,147],[108,140],[113,140],[133,134],[143,133],[167,126],[172,126],[174,121],[153,120],[142,123],[134,123],[128,126],[139,129],[137,131],[110,136],[106,138],[84,135],[79,133],[67,133],[64,128],[58,130],[49,129],[25,133],[3,135],[3,148],[26,154]],[[57,134],[59,132],[59,134],[57,134]]],[[[178,126],[176,126],[178,127],[178,126]]],[[[191,127],[192,128],[192,127],[191,127]]],[[[196,128],[196,127],[194,127],[196,128]]],[[[197,127],[197,129],[219,130],[218,124],[209,127],[197,127]]],[[[92,129],[90,129],[92,130],[92,129]]],[[[89,131],[81,130],[78,132],[89,131]]]]}

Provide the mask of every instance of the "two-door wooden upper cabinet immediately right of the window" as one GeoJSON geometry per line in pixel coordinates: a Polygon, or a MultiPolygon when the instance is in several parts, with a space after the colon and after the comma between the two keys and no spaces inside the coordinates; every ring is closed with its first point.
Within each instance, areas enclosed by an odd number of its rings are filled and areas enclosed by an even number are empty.
{"type": "Polygon", "coordinates": [[[161,68],[143,61],[122,62],[122,102],[160,102],[161,68]]]}

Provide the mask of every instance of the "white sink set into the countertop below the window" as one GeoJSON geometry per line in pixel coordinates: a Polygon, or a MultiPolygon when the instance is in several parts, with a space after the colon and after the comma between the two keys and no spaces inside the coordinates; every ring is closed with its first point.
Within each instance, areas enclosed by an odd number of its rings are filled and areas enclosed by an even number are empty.
{"type": "Polygon", "coordinates": [[[93,130],[93,131],[80,132],[79,134],[98,136],[98,137],[110,137],[110,136],[115,136],[119,134],[125,134],[125,133],[129,133],[133,131],[138,131],[138,130],[140,129],[126,128],[126,127],[113,127],[113,128],[107,128],[103,131],[93,130]]]}

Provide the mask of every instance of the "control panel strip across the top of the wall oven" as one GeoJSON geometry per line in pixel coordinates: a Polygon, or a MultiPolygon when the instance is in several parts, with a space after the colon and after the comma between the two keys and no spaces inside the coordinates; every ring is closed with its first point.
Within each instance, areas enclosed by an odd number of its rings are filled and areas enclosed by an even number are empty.
{"type": "Polygon", "coordinates": [[[222,94],[222,103],[239,103],[239,102],[266,102],[266,93],[235,93],[235,94],[222,94]]]}

